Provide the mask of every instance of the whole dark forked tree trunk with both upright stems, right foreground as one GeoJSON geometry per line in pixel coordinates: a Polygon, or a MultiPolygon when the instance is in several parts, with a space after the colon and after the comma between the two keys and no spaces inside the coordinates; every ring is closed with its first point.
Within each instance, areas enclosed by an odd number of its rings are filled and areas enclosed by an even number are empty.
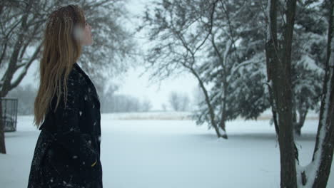
{"type": "Polygon", "coordinates": [[[286,1],[286,23],[283,26],[283,43],[277,40],[278,1],[269,0],[269,32],[266,43],[268,80],[273,88],[273,103],[277,111],[278,143],[280,146],[280,187],[297,187],[295,144],[293,141],[293,114],[291,90],[291,48],[295,21],[295,0],[286,1]],[[283,47],[280,47],[283,46],[283,47]]]}

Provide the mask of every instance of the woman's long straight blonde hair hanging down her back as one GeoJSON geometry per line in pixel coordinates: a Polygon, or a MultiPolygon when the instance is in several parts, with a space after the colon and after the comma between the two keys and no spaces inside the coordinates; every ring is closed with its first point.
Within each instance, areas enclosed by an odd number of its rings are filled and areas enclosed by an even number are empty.
{"type": "MultiPolygon", "coordinates": [[[[44,49],[40,61],[40,85],[34,104],[34,124],[39,127],[56,95],[58,108],[61,94],[67,98],[67,78],[81,54],[81,43],[75,37],[76,27],[84,28],[85,17],[79,6],[64,6],[53,11],[46,23],[44,49]]],[[[56,110],[54,108],[54,110],[56,110]]]]}

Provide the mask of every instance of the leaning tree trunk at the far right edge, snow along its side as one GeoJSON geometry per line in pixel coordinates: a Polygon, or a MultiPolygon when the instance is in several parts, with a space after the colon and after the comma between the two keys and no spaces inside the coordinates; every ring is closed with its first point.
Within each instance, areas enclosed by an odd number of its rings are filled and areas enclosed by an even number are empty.
{"type": "Polygon", "coordinates": [[[334,1],[330,0],[328,48],[323,85],[323,98],[321,100],[318,133],[313,153],[313,164],[318,166],[313,187],[326,187],[333,161],[334,149],[334,1]]]}

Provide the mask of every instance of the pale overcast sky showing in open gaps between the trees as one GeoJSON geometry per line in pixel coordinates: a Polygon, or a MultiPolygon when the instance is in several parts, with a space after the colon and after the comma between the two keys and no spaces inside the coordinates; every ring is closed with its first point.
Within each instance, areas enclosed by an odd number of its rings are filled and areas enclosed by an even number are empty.
{"type": "MultiPolygon", "coordinates": [[[[127,9],[130,11],[131,16],[136,16],[142,14],[145,8],[145,4],[150,4],[154,0],[128,0],[127,9]]],[[[137,23],[136,20],[132,21],[133,26],[137,23]]],[[[142,34],[136,36],[136,40],[140,44],[141,48],[145,48],[145,38],[142,34]],[[139,39],[141,38],[141,39],[139,39]]],[[[35,87],[38,87],[39,81],[36,79],[36,70],[38,67],[38,62],[35,62],[29,68],[29,71],[26,75],[26,78],[22,80],[20,85],[32,84],[35,87]]],[[[137,66],[136,68],[130,68],[127,73],[121,76],[118,80],[120,89],[118,93],[133,95],[134,97],[148,98],[151,100],[153,105],[152,110],[161,110],[161,105],[163,103],[168,104],[168,94],[171,91],[178,91],[181,93],[187,93],[189,97],[193,98],[193,89],[196,88],[197,82],[190,74],[178,75],[177,78],[168,78],[161,81],[160,83],[149,83],[148,73],[143,73],[143,67],[137,66]]]]}

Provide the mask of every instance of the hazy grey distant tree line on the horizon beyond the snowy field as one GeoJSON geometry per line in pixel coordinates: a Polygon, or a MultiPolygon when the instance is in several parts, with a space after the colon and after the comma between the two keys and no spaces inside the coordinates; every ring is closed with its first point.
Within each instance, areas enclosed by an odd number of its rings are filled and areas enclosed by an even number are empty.
{"type": "MultiPolygon", "coordinates": [[[[109,86],[106,92],[98,90],[98,95],[101,103],[101,113],[128,113],[128,112],[148,112],[152,108],[150,100],[140,100],[131,95],[117,94],[118,86],[109,86]]],[[[190,111],[193,110],[192,105],[198,105],[198,100],[203,100],[200,90],[196,90],[194,101],[186,93],[172,91],[168,95],[168,105],[174,111],[190,111]]],[[[34,100],[37,90],[31,84],[14,88],[7,97],[18,98],[18,115],[33,115],[34,100]]],[[[166,111],[166,108],[163,109],[166,111]]]]}

